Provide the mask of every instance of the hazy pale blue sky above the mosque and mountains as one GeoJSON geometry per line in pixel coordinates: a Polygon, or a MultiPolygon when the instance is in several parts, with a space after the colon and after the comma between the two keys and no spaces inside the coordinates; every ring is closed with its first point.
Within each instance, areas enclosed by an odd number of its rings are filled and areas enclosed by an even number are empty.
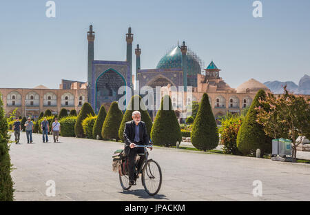
{"type": "MultiPolygon", "coordinates": [[[[141,68],[156,68],[165,52],[185,41],[236,88],[248,79],[294,81],[310,74],[310,1],[45,0],[0,3],[0,88],[59,88],[61,79],[87,81],[87,39],[94,25],[95,60],[124,61],[125,33],[141,47],[141,68]]],[[[135,73],[133,52],[133,72],[135,73]]]]}

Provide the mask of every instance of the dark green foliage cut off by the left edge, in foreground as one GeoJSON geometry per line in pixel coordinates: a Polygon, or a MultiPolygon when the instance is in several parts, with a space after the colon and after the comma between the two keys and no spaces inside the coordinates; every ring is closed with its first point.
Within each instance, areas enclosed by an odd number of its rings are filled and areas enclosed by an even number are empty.
{"type": "Polygon", "coordinates": [[[8,147],[10,136],[5,116],[3,102],[0,98],[0,201],[13,201],[14,189],[10,175],[12,169],[8,147]]]}

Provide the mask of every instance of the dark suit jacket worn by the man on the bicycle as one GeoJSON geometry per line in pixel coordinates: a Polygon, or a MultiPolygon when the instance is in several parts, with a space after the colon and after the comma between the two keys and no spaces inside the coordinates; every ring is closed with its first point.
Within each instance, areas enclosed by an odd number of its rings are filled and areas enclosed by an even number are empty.
{"type": "MultiPolygon", "coordinates": [[[[149,137],[147,136],[147,130],[145,127],[145,122],[140,121],[139,126],[139,136],[140,141],[142,141],[143,145],[149,144],[149,137]]],[[[136,135],[135,130],[135,123],[134,121],[129,121],[125,124],[125,130],[124,130],[124,139],[125,139],[125,149],[124,153],[125,156],[127,156],[130,153],[130,143],[134,142],[134,136],[136,135]]]]}

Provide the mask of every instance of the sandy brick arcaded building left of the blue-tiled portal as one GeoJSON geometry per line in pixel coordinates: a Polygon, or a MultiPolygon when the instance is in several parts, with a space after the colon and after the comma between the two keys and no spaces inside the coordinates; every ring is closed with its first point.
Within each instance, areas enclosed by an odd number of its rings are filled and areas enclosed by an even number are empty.
{"type": "Polygon", "coordinates": [[[87,101],[86,88],[85,82],[61,80],[59,89],[39,85],[36,88],[0,88],[0,93],[7,115],[17,108],[16,116],[36,118],[48,109],[52,114],[59,114],[62,108],[79,112],[87,101]]]}

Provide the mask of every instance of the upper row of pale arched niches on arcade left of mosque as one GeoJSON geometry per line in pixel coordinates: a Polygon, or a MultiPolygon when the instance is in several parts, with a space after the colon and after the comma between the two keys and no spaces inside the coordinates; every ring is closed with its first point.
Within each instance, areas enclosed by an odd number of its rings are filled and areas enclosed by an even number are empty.
{"type": "MultiPolygon", "coordinates": [[[[79,105],[85,103],[85,96],[79,96],[79,105]]],[[[26,106],[39,106],[40,96],[37,92],[29,92],[25,96],[26,106]]],[[[7,105],[8,106],[21,106],[21,94],[19,92],[13,91],[7,95],[7,105]]],[[[43,106],[56,106],[57,96],[52,92],[48,92],[43,96],[43,106]]],[[[65,92],[61,95],[61,106],[74,106],[74,95],[70,92],[65,92]]]]}

